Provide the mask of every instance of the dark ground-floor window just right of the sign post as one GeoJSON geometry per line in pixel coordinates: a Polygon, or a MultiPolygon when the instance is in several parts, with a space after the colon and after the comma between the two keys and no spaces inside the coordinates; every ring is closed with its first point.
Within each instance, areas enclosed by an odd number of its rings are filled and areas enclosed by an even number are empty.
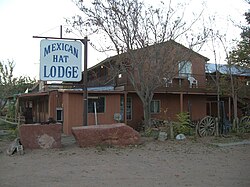
{"type": "Polygon", "coordinates": [[[88,99],[88,113],[95,113],[95,106],[97,113],[105,112],[105,97],[89,97],[88,99]]]}

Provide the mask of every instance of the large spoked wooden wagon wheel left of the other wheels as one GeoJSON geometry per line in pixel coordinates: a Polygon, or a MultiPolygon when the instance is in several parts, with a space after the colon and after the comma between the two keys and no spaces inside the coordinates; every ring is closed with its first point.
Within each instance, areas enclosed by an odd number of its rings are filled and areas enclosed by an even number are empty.
{"type": "Polygon", "coordinates": [[[211,116],[206,116],[198,124],[198,134],[200,136],[212,136],[215,132],[215,120],[211,116]]]}

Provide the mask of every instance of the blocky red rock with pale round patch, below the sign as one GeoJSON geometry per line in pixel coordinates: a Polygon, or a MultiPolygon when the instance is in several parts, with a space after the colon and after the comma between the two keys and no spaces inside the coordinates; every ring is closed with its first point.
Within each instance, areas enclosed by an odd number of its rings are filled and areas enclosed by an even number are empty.
{"type": "Polygon", "coordinates": [[[61,124],[24,124],[20,126],[20,141],[25,149],[60,148],[61,124]]]}

